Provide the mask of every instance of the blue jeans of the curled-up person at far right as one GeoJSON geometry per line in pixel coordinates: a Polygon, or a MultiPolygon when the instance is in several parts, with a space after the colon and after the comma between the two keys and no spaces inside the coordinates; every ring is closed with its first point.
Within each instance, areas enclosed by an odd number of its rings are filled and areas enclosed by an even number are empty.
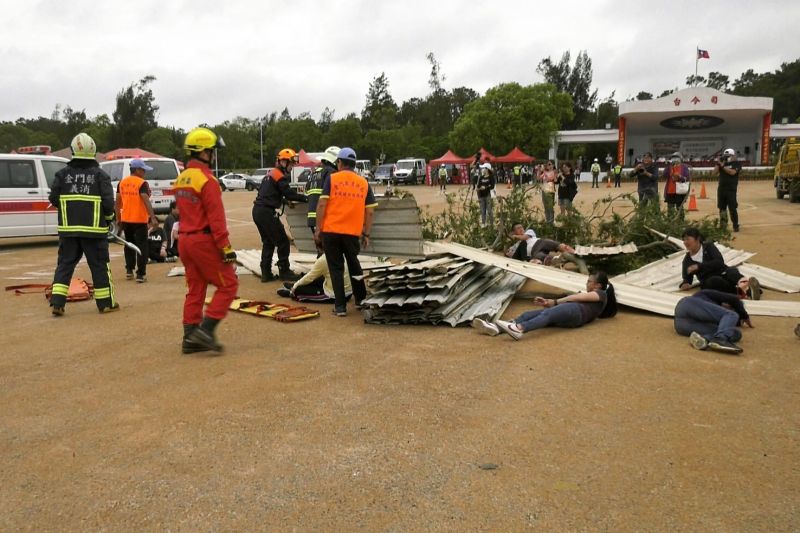
{"type": "Polygon", "coordinates": [[[721,305],[691,296],[675,306],[675,331],[688,337],[693,331],[710,340],[714,337],[737,342],[742,332],[737,327],[739,315],[721,305]]]}

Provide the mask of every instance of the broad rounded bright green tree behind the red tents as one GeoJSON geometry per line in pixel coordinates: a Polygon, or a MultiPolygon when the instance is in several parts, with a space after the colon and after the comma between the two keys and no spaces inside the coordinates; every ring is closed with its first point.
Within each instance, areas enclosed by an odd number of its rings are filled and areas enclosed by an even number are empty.
{"type": "Polygon", "coordinates": [[[467,105],[450,133],[450,146],[461,154],[482,146],[495,153],[519,146],[530,154],[546,154],[550,137],[573,113],[570,96],[550,83],[503,83],[467,105]]]}

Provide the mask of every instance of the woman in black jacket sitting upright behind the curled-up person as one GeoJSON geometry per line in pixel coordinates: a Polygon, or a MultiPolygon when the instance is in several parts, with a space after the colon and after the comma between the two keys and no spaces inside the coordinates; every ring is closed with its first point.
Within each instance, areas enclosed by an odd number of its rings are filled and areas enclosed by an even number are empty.
{"type": "Polygon", "coordinates": [[[686,228],[682,238],[686,255],[683,258],[680,290],[691,289],[692,281],[697,276],[701,289],[727,292],[751,300],[761,299],[758,279],[747,278],[737,268],[727,266],[719,249],[713,243],[705,242],[700,230],[686,228]]]}

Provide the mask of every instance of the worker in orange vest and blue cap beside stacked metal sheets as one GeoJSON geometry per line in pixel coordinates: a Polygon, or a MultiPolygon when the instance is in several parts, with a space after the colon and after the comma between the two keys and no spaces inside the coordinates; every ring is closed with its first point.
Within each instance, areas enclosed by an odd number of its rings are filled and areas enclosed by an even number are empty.
{"type": "Polygon", "coordinates": [[[322,243],[331,273],[334,292],[333,313],[347,316],[344,265],[347,263],[356,308],[367,297],[361,264],[358,262],[359,236],[364,247],[369,246],[373,208],[378,205],[372,188],[355,173],[356,152],[342,148],[337,158],[338,172],[330,175],[322,188],[317,206],[317,231],[314,240],[322,243]]]}

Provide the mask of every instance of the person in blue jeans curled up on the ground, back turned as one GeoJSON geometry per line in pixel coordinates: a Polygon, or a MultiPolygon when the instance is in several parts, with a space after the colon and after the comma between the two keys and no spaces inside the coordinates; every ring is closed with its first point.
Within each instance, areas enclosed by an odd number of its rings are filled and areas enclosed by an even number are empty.
{"type": "Polygon", "coordinates": [[[742,301],[726,292],[703,289],[682,298],[675,306],[675,331],[689,337],[697,350],[708,348],[738,355],[742,348],[739,326],[753,327],[742,301]]]}

